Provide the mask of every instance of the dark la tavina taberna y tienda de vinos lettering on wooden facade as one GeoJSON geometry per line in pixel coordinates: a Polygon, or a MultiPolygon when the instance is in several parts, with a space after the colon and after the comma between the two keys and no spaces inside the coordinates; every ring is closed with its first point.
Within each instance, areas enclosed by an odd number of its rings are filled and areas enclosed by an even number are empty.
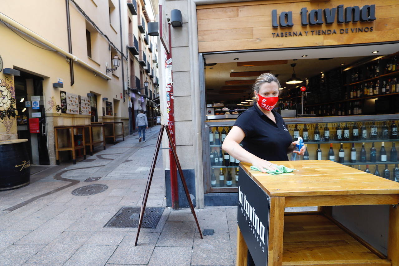
{"type": "MultiPolygon", "coordinates": [[[[323,24],[346,24],[354,22],[373,22],[375,20],[375,5],[359,6],[339,5],[336,8],[313,9],[308,11],[306,7],[300,11],[301,24],[304,27],[323,25],[323,24]]],[[[284,11],[280,14],[277,9],[272,10],[272,27],[273,28],[292,28],[292,11],[284,11]]],[[[276,37],[292,37],[292,36],[312,36],[312,35],[330,35],[330,34],[347,34],[357,32],[372,32],[373,27],[356,27],[356,28],[340,28],[340,29],[323,29],[323,30],[304,30],[291,32],[273,32],[273,38],[276,37]]]]}

